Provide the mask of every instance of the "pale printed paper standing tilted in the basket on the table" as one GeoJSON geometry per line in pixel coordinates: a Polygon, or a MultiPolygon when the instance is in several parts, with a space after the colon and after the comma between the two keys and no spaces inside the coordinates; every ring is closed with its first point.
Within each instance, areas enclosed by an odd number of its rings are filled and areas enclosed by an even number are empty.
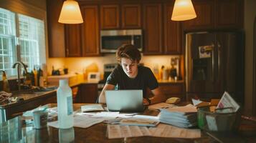
{"type": "Polygon", "coordinates": [[[234,101],[234,99],[229,95],[229,93],[224,92],[224,94],[222,95],[222,99],[220,99],[219,104],[217,105],[217,109],[227,107],[234,108],[235,112],[237,112],[237,110],[240,108],[240,106],[237,104],[237,102],[234,101]]]}

